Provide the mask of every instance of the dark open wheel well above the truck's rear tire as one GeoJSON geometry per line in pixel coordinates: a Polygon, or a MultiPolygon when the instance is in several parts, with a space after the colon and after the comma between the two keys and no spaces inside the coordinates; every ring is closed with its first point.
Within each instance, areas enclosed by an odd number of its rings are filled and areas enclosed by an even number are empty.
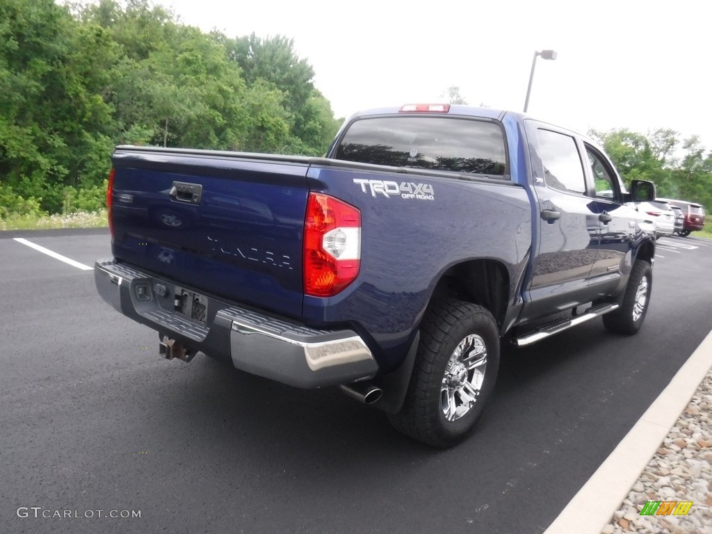
{"type": "Polygon", "coordinates": [[[509,302],[509,273],[502,263],[494,260],[458,263],[443,273],[433,296],[481,305],[501,328],[509,302]]]}

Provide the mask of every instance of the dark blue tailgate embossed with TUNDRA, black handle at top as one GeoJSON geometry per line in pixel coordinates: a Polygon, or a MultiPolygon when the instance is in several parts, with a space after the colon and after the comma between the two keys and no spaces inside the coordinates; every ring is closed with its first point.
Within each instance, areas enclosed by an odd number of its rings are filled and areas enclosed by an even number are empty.
{"type": "Polygon", "coordinates": [[[307,159],[218,154],[117,148],[115,258],[301,318],[307,159]]]}

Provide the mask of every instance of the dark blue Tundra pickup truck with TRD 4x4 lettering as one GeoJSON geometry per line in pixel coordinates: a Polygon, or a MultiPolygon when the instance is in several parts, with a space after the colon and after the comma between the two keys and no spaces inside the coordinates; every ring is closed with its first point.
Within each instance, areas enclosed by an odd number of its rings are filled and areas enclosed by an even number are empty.
{"type": "Polygon", "coordinates": [[[480,417],[502,342],[602,316],[634,334],[654,227],[610,159],[516,112],[358,112],[326,157],[120,146],[113,258],[95,281],[197,352],[296,387],[340,386],[432,446],[480,417]],[[604,194],[597,194],[597,192],[604,194]]]}

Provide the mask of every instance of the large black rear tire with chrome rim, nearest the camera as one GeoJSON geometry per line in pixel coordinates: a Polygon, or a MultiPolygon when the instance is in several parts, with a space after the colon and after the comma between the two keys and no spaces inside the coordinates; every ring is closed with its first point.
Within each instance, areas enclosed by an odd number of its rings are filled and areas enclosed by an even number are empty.
{"type": "Polygon", "coordinates": [[[498,367],[499,333],[492,314],[461,300],[432,300],[420,327],[405,402],[399,413],[389,416],[391,424],[431,446],[455,444],[481,416],[498,367]],[[467,354],[464,359],[469,362],[455,354],[462,344],[460,354],[467,354]]]}

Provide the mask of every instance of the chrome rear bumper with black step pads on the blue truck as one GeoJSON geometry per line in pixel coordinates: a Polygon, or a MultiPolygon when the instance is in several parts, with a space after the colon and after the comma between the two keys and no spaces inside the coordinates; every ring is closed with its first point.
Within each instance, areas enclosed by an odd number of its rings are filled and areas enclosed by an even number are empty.
{"type": "Polygon", "coordinates": [[[173,295],[181,287],[172,281],[114,260],[98,260],[94,278],[101,297],[123,315],[253,375],[313,388],[378,372],[371,351],[352,330],[315,330],[210,297],[202,324],[173,311],[173,295]],[[157,293],[157,284],[167,288],[165,295],[157,293]]]}

